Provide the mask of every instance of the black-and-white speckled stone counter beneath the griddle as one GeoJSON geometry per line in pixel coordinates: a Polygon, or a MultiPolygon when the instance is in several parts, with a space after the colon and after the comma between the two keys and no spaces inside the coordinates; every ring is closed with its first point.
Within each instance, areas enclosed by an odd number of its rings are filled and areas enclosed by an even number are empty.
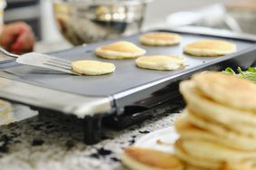
{"type": "Polygon", "coordinates": [[[173,126],[180,114],[152,118],[125,130],[103,128],[103,140],[93,146],[83,142],[81,126],[68,118],[34,117],[1,127],[0,169],[125,169],[123,148],[154,130],[173,126]]]}

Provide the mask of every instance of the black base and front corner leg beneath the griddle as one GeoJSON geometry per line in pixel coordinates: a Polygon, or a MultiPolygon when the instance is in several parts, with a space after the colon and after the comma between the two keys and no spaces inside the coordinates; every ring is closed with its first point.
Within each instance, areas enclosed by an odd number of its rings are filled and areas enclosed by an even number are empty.
{"type": "MultiPolygon", "coordinates": [[[[59,114],[53,110],[48,109],[39,109],[39,118],[44,120],[47,118],[47,121],[58,121],[64,127],[71,128],[72,130],[79,130],[81,133],[81,140],[84,141],[86,145],[94,145],[99,141],[103,140],[103,128],[111,127],[113,129],[121,130],[126,127],[131,127],[133,125],[138,125],[142,123],[143,120],[148,118],[161,118],[161,116],[177,113],[181,111],[184,107],[184,102],[181,97],[177,97],[162,105],[154,107],[153,109],[148,109],[144,111],[139,111],[134,113],[124,113],[120,116],[110,115],[109,117],[103,116],[94,116],[94,117],[85,117],[83,119],[76,118],[74,115],[65,115],[59,114]],[[84,135],[84,137],[83,137],[84,135]]],[[[128,110],[127,110],[128,111],[128,110]]],[[[45,122],[45,121],[42,121],[45,122]]],[[[62,127],[55,127],[54,130],[60,130],[62,127]]]]}

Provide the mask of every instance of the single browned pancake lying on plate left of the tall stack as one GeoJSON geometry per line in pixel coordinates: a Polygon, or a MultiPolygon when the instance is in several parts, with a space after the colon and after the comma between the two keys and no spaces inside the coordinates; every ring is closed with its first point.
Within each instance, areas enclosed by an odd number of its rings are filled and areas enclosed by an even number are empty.
{"type": "Polygon", "coordinates": [[[124,150],[122,162],[133,170],[182,170],[182,162],[172,154],[131,146],[124,150]]]}

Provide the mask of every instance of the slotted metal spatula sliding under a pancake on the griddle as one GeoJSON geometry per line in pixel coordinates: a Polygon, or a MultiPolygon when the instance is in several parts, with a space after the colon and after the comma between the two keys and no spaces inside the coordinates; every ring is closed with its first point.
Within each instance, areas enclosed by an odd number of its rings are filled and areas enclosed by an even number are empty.
{"type": "Polygon", "coordinates": [[[5,51],[5,49],[1,47],[0,47],[0,52],[4,53],[9,57],[17,58],[16,62],[21,64],[42,67],[42,68],[50,69],[54,71],[62,71],[62,72],[74,74],[74,75],[80,75],[72,71],[71,61],[68,61],[65,59],[61,59],[51,55],[37,53],[37,52],[29,52],[23,55],[16,55],[14,53],[5,51]]]}

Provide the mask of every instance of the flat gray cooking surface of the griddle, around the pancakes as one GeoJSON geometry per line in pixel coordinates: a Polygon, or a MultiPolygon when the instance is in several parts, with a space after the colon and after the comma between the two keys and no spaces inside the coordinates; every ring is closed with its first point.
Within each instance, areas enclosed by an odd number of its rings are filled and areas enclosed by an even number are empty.
{"type": "MultiPolygon", "coordinates": [[[[211,61],[219,60],[218,57],[193,57],[186,55],[182,52],[182,47],[185,44],[209,38],[224,40],[223,38],[187,33],[182,34],[182,42],[181,44],[176,46],[143,46],[142,44],[140,44],[140,42],[138,42],[138,35],[123,38],[122,40],[136,43],[147,51],[147,55],[179,55],[185,58],[187,66],[184,68],[184,70],[188,70],[211,61]]],[[[247,41],[231,39],[229,39],[228,41],[237,44],[238,52],[248,49],[253,45],[253,42],[247,41]]],[[[50,89],[63,90],[86,96],[110,96],[124,90],[133,89],[134,87],[141,86],[154,80],[160,80],[165,77],[172,77],[179,72],[143,70],[136,67],[134,60],[104,60],[95,56],[94,49],[109,42],[113,41],[94,43],[85,47],[76,47],[69,51],[55,52],[53,53],[53,55],[71,61],[97,60],[113,62],[116,66],[116,70],[112,74],[107,74],[103,76],[74,76],[63,73],[56,73],[53,71],[45,71],[31,66],[17,65],[14,63],[14,66],[2,69],[2,72],[0,73],[1,76],[5,78],[25,81],[30,84],[36,84],[50,89]]]]}

